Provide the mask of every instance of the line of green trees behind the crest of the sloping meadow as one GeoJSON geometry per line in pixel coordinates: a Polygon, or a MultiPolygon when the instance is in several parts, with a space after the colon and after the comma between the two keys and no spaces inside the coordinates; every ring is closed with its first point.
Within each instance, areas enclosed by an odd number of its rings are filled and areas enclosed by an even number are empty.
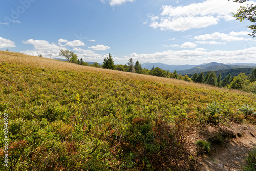
{"type": "Polygon", "coordinates": [[[115,65],[110,53],[108,57],[104,58],[103,65],[99,65],[97,62],[89,65],[89,63],[84,62],[82,58],[79,60],[77,55],[74,54],[74,52],[69,50],[60,50],[59,55],[64,56],[68,60],[68,62],[76,63],[79,65],[92,66],[92,67],[111,69],[111,70],[119,70],[119,71],[132,72],[132,73],[145,74],[145,75],[153,75],[153,76],[166,77],[166,78],[173,78],[173,79],[179,79],[179,80],[184,80],[188,82],[204,83],[211,86],[225,87],[229,89],[238,89],[238,90],[256,93],[256,68],[254,68],[251,74],[249,75],[246,75],[245,73],[241,72],[237,76],[231,76],[231,74],[229,73],[224,79],[222,79],[221,74],[219,74],[217,77],[215,72],[207,72],[206,75],[204,74],[204,72],[201,72],[199,74],[195,73],[189,77],[188,75],[177,74],[176,70],[172,73],[172,72],[169,72],[169,70],[163,70],[159,67],[154,67],[154,66],[152,67],[151,70],[148,70],[148,69],[142,68],[139,61],[136,61],[134,64],[132,58],[130,58],[127,64],[125,65],[122,65],[122,64],[115,65]]]}

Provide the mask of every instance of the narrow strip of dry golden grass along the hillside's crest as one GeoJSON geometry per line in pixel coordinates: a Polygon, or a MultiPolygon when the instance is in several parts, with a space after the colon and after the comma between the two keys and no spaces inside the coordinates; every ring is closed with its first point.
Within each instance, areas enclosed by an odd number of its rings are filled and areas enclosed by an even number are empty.
{"type": "Polygon", "coordinates": [[[39,67],[39,68],[55,69],[55,70],[101,72],[104,74],[115,74],[121,77],[126,77],[130,79],[135,79],[135,80],[153,81],[153,82],[158,82],[162,84],[172,84],[174,86],[186,86],[186,87],[195,87],[195,88],[200,88],[205,90],[249,94],[239,90],[227,90],[224,88],[218,88],[218,87],[209,86],[206,84],[191,83],[191,82],[186,82],[186,81],[177,80],[177,79],[170,79],[170,78],[156,77],[151,75],[143,75],[143,74],[136,74],[136,73],[130,73],[130,72],[82,66],[74,63],[68,63],[68,62],[63,62],[59,60],[48,59],[48,58],[43,58],[38,56],[30,56],[30,55],[25,55],[25,54],[16,53],[16,52],[0,51],[0,62],[2,63],[10,62],[10,63],[16,63],[18,65],[27,65],[31,67],[39,67]]]}

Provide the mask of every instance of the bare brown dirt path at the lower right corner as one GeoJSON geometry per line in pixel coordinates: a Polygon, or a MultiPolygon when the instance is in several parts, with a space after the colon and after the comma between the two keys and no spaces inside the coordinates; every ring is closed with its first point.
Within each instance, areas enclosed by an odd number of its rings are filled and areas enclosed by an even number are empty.
{"type": "Polygon", "coordinates": [[[199,170],[242,170],[248,152],[256,148],[256,138],[253,137],[256,136],[256,128],[244,126],[242,129],[240,127],[239,131],[239,137],[213,147],[211,155],[199,156],[197,159],[199,170]]]}

